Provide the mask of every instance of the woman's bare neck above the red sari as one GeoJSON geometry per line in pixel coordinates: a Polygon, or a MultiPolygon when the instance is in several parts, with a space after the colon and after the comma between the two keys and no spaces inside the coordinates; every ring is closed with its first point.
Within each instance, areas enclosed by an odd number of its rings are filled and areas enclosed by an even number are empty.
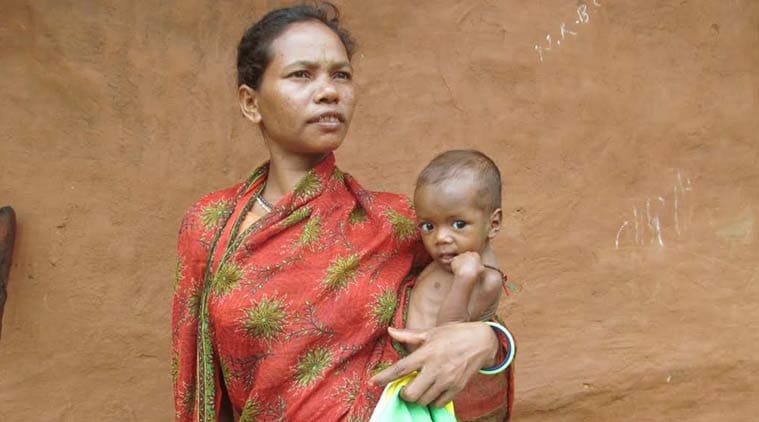
{"type": "Polygon", "coordinates": [[[324,159],[326,154],[277,154],[270,151],[269,175],[262,192],[263,197],[275,203],[292,191],[295,184],[324,159]]]}

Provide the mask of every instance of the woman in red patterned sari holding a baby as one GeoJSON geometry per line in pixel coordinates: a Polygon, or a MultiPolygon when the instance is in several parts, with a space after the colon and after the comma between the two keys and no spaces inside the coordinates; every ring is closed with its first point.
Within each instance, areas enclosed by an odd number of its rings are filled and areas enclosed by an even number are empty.
{"type": "MultiPolygon", "coordinates": [[[[240,108],[270,156],[184,216],[177,420],[367,420],[401,375],[420,371],[404,398],[441,406],[497,361],[484,323],[387,335],[403,324],[420,248],[406,198],[366,191],[334,165],[355,105],[352,49],[329,4],[273,11],[240,42],[240,108]],[[398,361],[398,342],[419,347],[398,361]]],[[[503,414],[507,390],[502,376],[472,383],[457,413],[503,414]]]]}

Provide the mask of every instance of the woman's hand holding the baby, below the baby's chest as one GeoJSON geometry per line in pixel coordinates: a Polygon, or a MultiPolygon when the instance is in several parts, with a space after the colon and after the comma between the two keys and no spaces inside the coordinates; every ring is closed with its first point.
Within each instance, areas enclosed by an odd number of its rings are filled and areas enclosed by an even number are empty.
{"type": "Polygon", "coordinates": [[[413,371],[416,378],[401,392],[408,402],[443,407],[480,368],[491,366],[498,351],[498,339],[482,322],[465,322],[429,330],[388,328],[390,336],[401,343],[417,345],[413,353],[372,377],[384,386],[413,371]]]}

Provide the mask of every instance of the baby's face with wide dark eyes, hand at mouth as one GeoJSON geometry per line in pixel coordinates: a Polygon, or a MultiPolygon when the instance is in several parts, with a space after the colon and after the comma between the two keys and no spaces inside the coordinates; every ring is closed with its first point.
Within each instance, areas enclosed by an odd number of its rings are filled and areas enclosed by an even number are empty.
{"type": "Polygon", "coordinates": [[[477,192],[476,184],[463,178],[423,185],[414,193],[424,247],[446,270],[456,255],[482,253],[488,244],[491,214],[479,205],[477,192]]]}

